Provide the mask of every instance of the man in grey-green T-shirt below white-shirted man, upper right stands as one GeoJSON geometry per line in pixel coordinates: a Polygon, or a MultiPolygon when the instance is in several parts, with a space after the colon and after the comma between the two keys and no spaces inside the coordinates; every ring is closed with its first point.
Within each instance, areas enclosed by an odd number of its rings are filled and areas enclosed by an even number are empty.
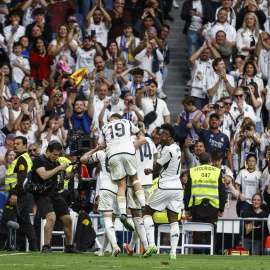
{"type": "MultiPolygon", "coordinates": [[[[224,0],[225,1],[225,0],[224,0]]],[[[227,2],[231,2],[231,0],[226,0],[227,2]]],[[[226,33],[222,30],[217,31],[216,38],[212,39],[212,45],[219,52],[222,60],[226,66],[226,73],[230,71],[230,60],[232,57],[232,45],[226,42],[226,33]]]]}

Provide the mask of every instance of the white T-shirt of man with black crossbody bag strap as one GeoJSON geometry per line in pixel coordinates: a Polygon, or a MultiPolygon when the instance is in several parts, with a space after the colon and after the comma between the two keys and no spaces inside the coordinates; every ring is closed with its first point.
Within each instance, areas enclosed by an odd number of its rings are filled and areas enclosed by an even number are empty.
{"type": "MultiPolygon", "coordinates": [[[[157,119],[149,126],[148,133],[150,134],[156,127],[160,127],[162,124],[164,124],[164,116],[170,115],[170,112],[168,110],[167,104],[162,99],[156,99],[154,102],[157,101],[157,119]]],[[[154,104],[153,100],[149,97],[142,99],[142,106],[141,110],[143,111],[144,115],[147,115],[148,113],[152,112],[154,110],[154,104]]]]}

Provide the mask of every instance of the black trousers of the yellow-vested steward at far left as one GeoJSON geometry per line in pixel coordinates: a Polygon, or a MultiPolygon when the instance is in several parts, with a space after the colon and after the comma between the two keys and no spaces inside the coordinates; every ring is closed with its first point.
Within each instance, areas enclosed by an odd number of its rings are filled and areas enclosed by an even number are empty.
{"type": "Polygon", "coordinates": [[[29,249],[36,250],[36,234],[29,217],[31,195],[29,193],[20,194],[18,196],[17,206],[10,205],[10,196],[11,195],[8,196],[6,201],[0,224],[0,247],[4,246],[6,240],[9,238],[9,228],[7,227],[8,221],[15,221],[15,218],[17,218],[20,228],[28,238],[29,249]]]}

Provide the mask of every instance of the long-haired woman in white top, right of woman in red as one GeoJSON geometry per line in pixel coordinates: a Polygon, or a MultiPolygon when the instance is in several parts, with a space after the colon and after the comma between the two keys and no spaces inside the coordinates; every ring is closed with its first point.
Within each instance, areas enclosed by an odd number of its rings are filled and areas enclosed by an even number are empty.
{"type": "MultiPolygon", "coordinates": [[[[61,55],[65,55],[68,58],[68,65],[75,70],[75,59],[72,56],[72,52],[68,46],[67,42],[68,26],[66,24],[60,24],[57,27],[56,39],[50,43],[49,52],[54,57],[55,63],[57,63],[61,55]]],[[[78,45],[75,40],[72,41],[74,44],[78,45]]]]}

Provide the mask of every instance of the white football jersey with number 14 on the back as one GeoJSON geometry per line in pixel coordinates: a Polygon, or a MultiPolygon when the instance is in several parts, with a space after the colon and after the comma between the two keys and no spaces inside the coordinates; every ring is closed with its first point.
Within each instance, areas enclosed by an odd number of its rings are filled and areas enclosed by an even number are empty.
{"type": "Polygon", "coordinates": [[[146,137],[146,143],[136,149],[137,174],[142,186],[153,185],[153,175],[145,175],[144,169],[153,169],[154,156],[157,154],[157,148],[154,142],[146,137]]]}

